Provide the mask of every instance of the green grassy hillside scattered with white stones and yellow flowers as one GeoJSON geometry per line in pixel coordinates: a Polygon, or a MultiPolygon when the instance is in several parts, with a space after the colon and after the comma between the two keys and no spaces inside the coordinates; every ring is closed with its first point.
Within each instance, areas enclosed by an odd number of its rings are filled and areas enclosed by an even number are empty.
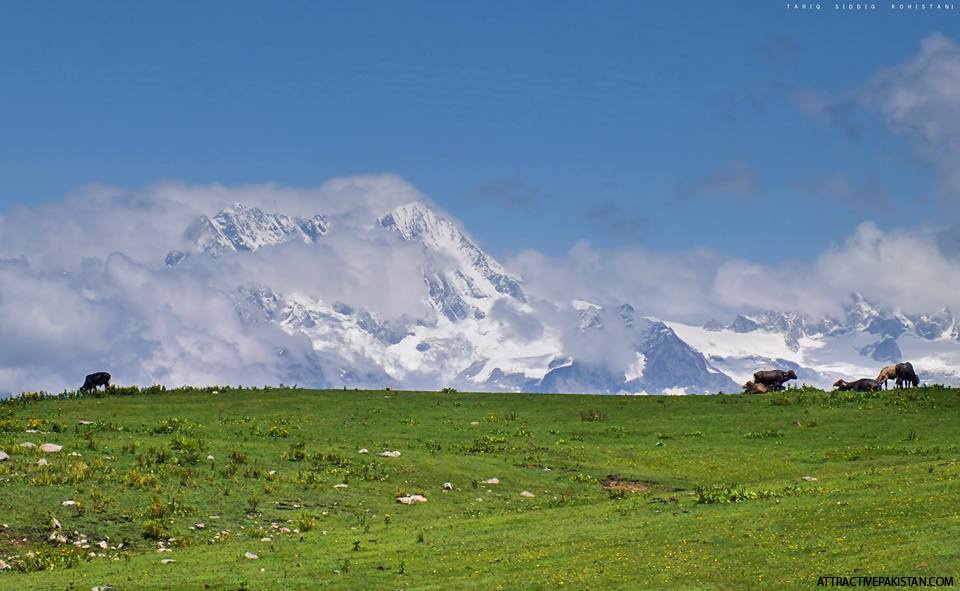
{"type": "Polygon", "coordinates": [[[960,575],[953,389],[145,392],[7,402],[0,449],[3,589],[813,588],[818,575],[960,575]],[[409,494],[428,501],[397,503],[409,494]]]}

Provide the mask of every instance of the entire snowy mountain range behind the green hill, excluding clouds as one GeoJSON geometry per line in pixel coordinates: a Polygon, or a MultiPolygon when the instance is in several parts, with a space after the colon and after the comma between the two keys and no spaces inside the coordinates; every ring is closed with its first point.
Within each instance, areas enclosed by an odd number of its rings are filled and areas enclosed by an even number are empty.
{"type": "MultiPolygon", "coordinates": [[[[357,302],[286,285],[235,286],[244,322],[310,339],[313,365],[291,368],[310,385],[715,393],[738,391],[762,367],[794,369],[801,381],[823,386],[839,376],[872,377],[901,359],[926,381],[960,380],[960,331],[949,310],[906,315],[853,294],[840,319],[762,311],[693,326],[643,316],[643,302],[531,300],[521,277],[423,203],[369,224],[419,249],[420,274],[407,287],[422,294],[429,311],[422,317],[382,318],[357,302]]],[[[230,252],[239,255],[232,264],[242,264],[287,242],[322,244],[336,231],[323,214],[292,217],[238,203],[197,218],[184,229],[187,247],[167,253],[165,263],[176,270],[190,257],[230,252]]]]}

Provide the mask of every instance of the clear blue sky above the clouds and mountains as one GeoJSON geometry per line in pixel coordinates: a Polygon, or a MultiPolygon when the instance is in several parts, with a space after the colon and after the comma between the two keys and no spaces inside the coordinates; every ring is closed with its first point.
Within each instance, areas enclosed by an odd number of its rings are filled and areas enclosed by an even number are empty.
{"type": "Polygon", "coordinates": [[[802,97],[844,104],[960,38],[960,11],[832,6],[4,2],[0,211],[94,182],[393,172],[497,255],[585,239],[764,263],[868,220],[952,220],[909,138],[802,97]],[[812,188],[839,177],[849,198],[812,188]]]}

